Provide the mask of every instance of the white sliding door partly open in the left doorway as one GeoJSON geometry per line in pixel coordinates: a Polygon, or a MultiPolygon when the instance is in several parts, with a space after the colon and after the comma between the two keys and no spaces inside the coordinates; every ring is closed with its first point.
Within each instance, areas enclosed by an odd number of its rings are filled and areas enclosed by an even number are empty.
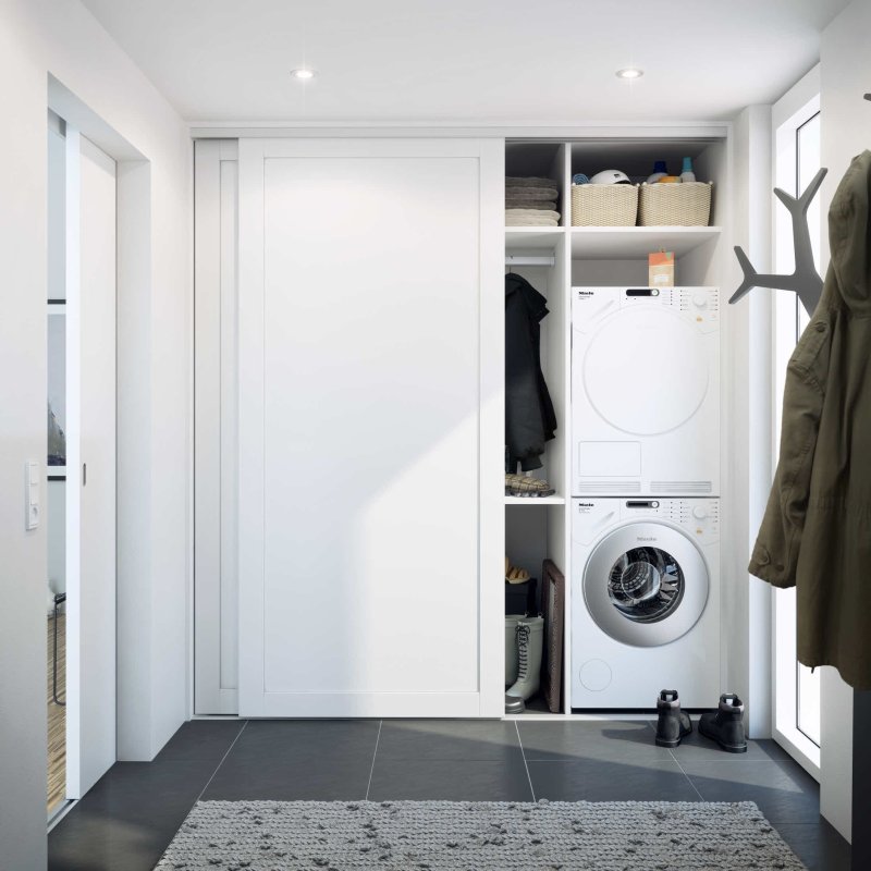
{"type": "Polygon", "coordinates": [[[78,798],[116,759],[116,188],[114,161],[69,127],[66,148],[66,795],[78,798]]]}

